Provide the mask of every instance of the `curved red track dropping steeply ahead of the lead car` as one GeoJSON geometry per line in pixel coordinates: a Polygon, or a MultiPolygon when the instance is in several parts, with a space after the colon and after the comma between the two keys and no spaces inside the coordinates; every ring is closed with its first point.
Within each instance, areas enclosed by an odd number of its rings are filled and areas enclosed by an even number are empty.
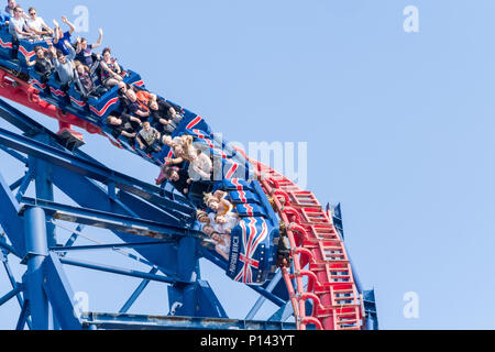
{"type": "Polygon", "coordinates": [[[301,190],[258,162],[250,162],[290,243],[294,274],[286,267],[283,274],[298,329],[306,330],[308,324],[318,330],[364,329],[363,298],[358,294],[351,263],[332,217],[322,210],[312,193],[301,190]],[[309,316],[305,307],[308,299],[314,304],[309,316]]]}

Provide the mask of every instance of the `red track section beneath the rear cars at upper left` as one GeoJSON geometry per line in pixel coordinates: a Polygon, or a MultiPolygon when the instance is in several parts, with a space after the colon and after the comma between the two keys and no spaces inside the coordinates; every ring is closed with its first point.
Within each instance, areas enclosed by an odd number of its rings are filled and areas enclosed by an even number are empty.
{"type": "Polygon", "coordinates": [[[58,120],[61,130],[70,130],[70,125],[76,125],[91,134],[101,134],[100,128],[74,114],[65,113],[57,107],[41,100],[38,91],[35,88],[3,69],[0,69],[0,96],[58,120]]]}

